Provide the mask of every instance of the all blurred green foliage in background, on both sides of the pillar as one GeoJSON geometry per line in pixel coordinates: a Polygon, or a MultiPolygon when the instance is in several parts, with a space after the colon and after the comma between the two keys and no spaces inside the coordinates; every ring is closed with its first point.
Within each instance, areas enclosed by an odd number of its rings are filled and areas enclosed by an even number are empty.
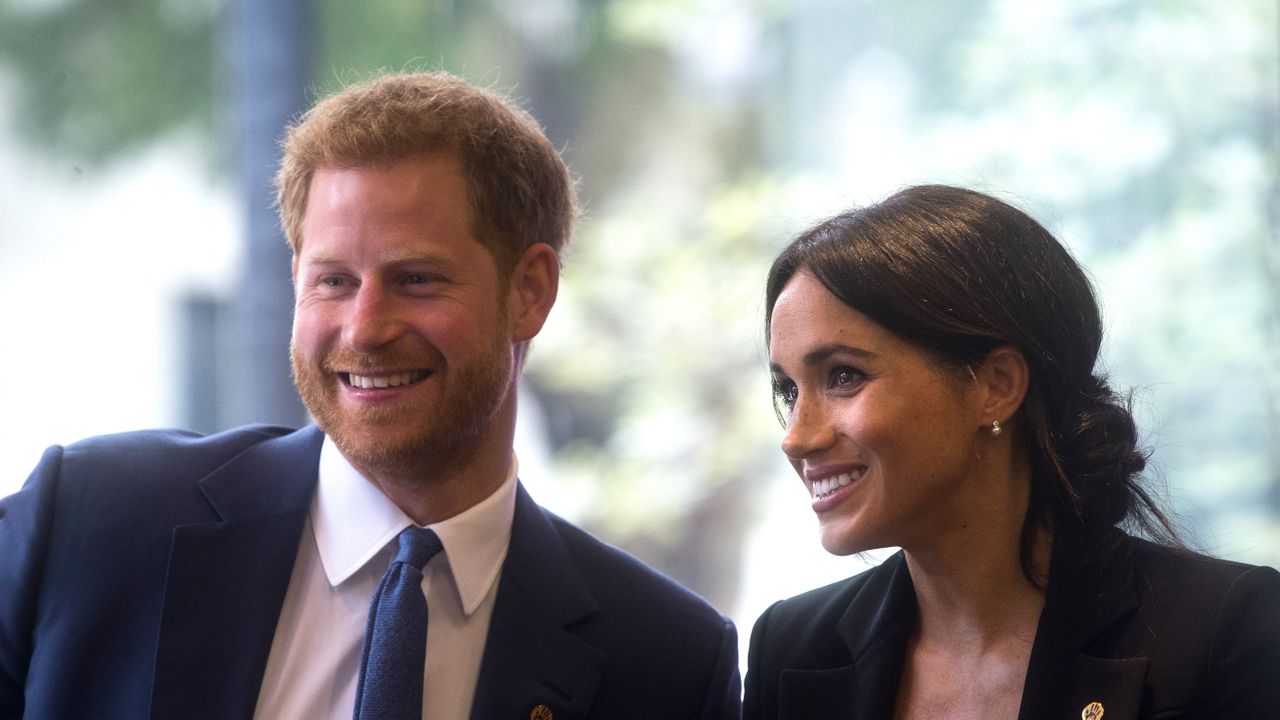
{"type": "MultiPolygon", "coordinates": [[[[713,601],[732,602],[755,497],[788,471],[760,331],[769,260],[819,217],[924,181],[996,191],[1071,246],[1188,524],[1210,550],[1280,562],[1272,4],[317,8],[317,94],[448,69],[509,88],[563,149],[588,217],[527,370],[557,479],[584,523],[713,601]]],[[[216,147],[224,13],[0,5],[23,129],[92,161],[179,129],[216,147]]]]}

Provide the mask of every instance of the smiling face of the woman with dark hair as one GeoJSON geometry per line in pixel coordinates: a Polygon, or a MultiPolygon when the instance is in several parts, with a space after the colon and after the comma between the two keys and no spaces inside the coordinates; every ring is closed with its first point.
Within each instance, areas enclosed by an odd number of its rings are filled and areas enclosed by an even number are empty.
{"type": "Polygon", "coordinates": [[[836,555],[942,542],[980,523],[978,434],[966,377],[938,365],[800,272],[771,319],[769,364],[787,421],[782,451],[836,555]]]}

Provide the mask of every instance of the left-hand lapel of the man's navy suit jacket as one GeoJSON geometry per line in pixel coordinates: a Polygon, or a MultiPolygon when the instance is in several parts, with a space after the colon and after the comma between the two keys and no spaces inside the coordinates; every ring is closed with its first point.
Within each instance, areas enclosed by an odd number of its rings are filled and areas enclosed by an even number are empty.
{"type": "Polygon", "coordinates": [[[323,438],[261,442],[200,482],[219,520],[174,529],[152,717],[252,716],[323,438]]]}

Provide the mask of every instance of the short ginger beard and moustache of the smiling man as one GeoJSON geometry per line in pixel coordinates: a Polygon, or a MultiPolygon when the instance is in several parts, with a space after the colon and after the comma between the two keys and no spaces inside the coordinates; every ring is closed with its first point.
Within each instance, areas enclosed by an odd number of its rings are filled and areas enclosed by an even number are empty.
{"type": "MultiPolygon", "coordinates": [[[[504,307],[498,304],[499,314],[504,307]]],[[[494,328],[506,327],[498,318],[494,328]]],[[[293,382],[303,405],[338,450],[361,470],[429,471],[463,462],[483,436],[500,421],[500,411],[515,389],[515,348],[500,332],[465,364],[447,365],[430,345],[357,354],[346,348],[306,357],[291,343],[293,382]],[[388,368],[429,368],[419,380],[434,383],[428,397],[355,407],[344,404],[348,391],[340,372],[388,368]]]]}

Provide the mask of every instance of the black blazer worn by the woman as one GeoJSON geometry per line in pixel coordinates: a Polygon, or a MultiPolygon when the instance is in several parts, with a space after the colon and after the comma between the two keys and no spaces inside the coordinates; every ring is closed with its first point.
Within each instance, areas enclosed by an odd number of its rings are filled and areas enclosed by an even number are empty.
{"type": "MultiPolygon", "coordinates": [[[[1019,720],[1280,719],[1280,573],[1107,530],[1055,542],[1019,720]]],[[[892,717],[915,623],[902,553],[769,607],[745,720],[892,717]]]]}

